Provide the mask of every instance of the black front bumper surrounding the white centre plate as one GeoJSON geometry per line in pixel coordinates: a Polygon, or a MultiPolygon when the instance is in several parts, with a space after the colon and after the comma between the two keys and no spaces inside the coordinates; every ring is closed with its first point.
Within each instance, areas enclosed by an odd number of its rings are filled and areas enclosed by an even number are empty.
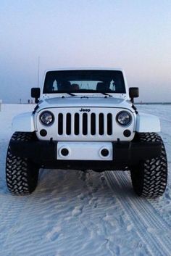
{"type": "MultiPolygon", "coordinates": [[[[99,142],[94,142],[98,144],[99,142]]],[[[26,157],[38,164],[40,168],[57,168],[57,169],[77,169],[77,170],[123,170],[128,165],[137,165],[143,160],[150,160],[158,157],[161,153],[162,144],[160,141],[155,142],[108,142],[111,146],[110,157],[94,160],[86,159],[61,159],[58,157],[58,149],[60,142],[58,141],[10,141],[12,154],[19,157],[26,157]]],[[[64,141],[67,144],[67,141],[64,141]]],[[[72,142],[74,145],[75,143],[72,142]]],[[[83,149],[83,141],[80,144],[80,152],[83,149]]],[[[88,142],[86,142],[88,144],[88,142]]],[[[92,142],[91,142],[92,144],[92,142]]],[[[104,142],[105,144],[105,142],[104,142]]]]}

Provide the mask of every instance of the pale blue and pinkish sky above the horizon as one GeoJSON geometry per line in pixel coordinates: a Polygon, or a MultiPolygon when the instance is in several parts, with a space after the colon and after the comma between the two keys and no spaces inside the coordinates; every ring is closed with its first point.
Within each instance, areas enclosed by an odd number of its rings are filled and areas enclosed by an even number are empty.
{"type": "Polygon", "coordinates": [[[122,67],[139,100],[171,102],[171,0],[0,0],[0,99],[22,102],[44,70],[122,67]]]}

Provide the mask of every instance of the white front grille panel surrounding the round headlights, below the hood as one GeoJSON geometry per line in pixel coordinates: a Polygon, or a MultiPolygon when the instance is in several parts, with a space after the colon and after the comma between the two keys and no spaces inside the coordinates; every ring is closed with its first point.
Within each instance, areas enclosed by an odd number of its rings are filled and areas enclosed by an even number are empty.
{"type": "Polygon", "coordinates": [[[54,115],[54,123],[44,126],[40,122],[41,110],[37,116],[36,136],[40,140],[53,141],[131,141],[134,137],[135,121],[127,127],[116,121],[117,113],[124,110],[114,107],[54,107],[47,109],[54,115]],[[41,130],[46,129],[46,136],[41,130]],[[129,137],[124,136],[125,129],[130,130],[129,137]]]}

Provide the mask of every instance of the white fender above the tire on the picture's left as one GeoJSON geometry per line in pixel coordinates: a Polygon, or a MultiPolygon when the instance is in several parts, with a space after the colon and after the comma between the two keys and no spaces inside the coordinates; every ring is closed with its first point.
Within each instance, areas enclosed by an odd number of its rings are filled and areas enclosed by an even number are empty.
{"type": "Polygon", "coordinates": [[[34,115],[32,112],[26,112],[17,115],[12,120],[12,131],[35,131],[34,115]]]}

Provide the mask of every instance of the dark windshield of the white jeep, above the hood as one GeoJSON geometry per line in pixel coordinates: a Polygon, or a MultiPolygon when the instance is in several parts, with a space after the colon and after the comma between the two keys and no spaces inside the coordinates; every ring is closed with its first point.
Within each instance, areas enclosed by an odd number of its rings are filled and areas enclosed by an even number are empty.
{"type": "Polygon", "coordinates": [[[43,94],[68,92],[125,94],[124,78],[121,71],[115,70],[62,70],[46,73],[43,94]]]}

